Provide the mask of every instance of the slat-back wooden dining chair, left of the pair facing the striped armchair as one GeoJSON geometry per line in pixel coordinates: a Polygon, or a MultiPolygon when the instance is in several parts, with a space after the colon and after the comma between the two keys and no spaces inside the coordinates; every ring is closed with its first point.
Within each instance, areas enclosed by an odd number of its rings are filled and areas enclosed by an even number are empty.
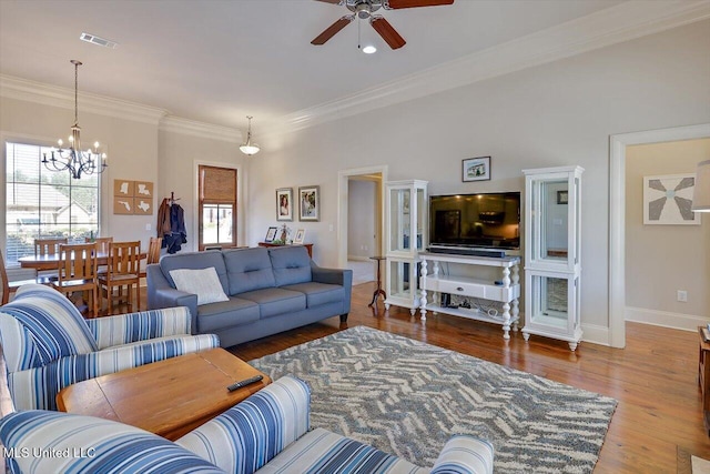
{"type": "MultiPolygon", "coordinates": [[[[99,315],[99,285],[97,281],[97,245],[94,243],[60,244],[59,275],[52,286],[70,297],[72,293],[89,294],[91,317],[99,315]]],[[[71,297],[70,297],[71,299],[71,297]]],[[[83,301],[87,301],[82,296],[83,301]]]]}

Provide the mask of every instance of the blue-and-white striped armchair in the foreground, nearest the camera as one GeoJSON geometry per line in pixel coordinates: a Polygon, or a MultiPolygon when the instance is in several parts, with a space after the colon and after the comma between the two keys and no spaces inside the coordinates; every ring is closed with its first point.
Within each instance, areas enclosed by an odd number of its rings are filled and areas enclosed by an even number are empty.
{"type": "Polygon", "coordinates": [[[432,470],[323,428],[310,430],[311,392],[285,376],[174,443],[91,416],[16,412],[0,421],[10,473],[493,473],[484,440],[449,440],[432,470]]]}

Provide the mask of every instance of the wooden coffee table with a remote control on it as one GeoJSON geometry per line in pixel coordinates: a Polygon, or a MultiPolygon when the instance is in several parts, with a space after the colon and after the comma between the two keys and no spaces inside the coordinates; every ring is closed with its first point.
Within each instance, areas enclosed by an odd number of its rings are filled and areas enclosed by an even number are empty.
{"type": "Polygon", "coordinates": [[[178,440],[271,383],[223,349],[181,355],[79,382],[57,395],[60,411],[115,420],[178,440]],[[264,380],[234,392],[227,385],[264,380]]]}

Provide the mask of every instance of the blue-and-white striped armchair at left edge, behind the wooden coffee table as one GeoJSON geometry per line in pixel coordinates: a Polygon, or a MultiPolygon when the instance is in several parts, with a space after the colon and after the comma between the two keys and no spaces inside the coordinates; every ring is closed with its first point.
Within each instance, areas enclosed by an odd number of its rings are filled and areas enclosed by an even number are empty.
{"type": "Polygon", "coordinates": [[[67,385],[191,352],[219,347],[190,335],[190,312],[171,307],[84,320],[58,291],[21,286],[0,306],[0,344],[16,410],[57,410],[67,385]]]}

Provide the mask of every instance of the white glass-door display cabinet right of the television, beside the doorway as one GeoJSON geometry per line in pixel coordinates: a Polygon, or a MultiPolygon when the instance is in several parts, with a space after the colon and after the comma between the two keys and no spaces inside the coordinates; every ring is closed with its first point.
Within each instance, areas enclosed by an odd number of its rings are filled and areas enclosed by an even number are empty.
{"type": "Polygon", "coordinates": [[[525,327],[530,334],[581,341],[580,167],[523,170],[525,174],[525,327]]]}

